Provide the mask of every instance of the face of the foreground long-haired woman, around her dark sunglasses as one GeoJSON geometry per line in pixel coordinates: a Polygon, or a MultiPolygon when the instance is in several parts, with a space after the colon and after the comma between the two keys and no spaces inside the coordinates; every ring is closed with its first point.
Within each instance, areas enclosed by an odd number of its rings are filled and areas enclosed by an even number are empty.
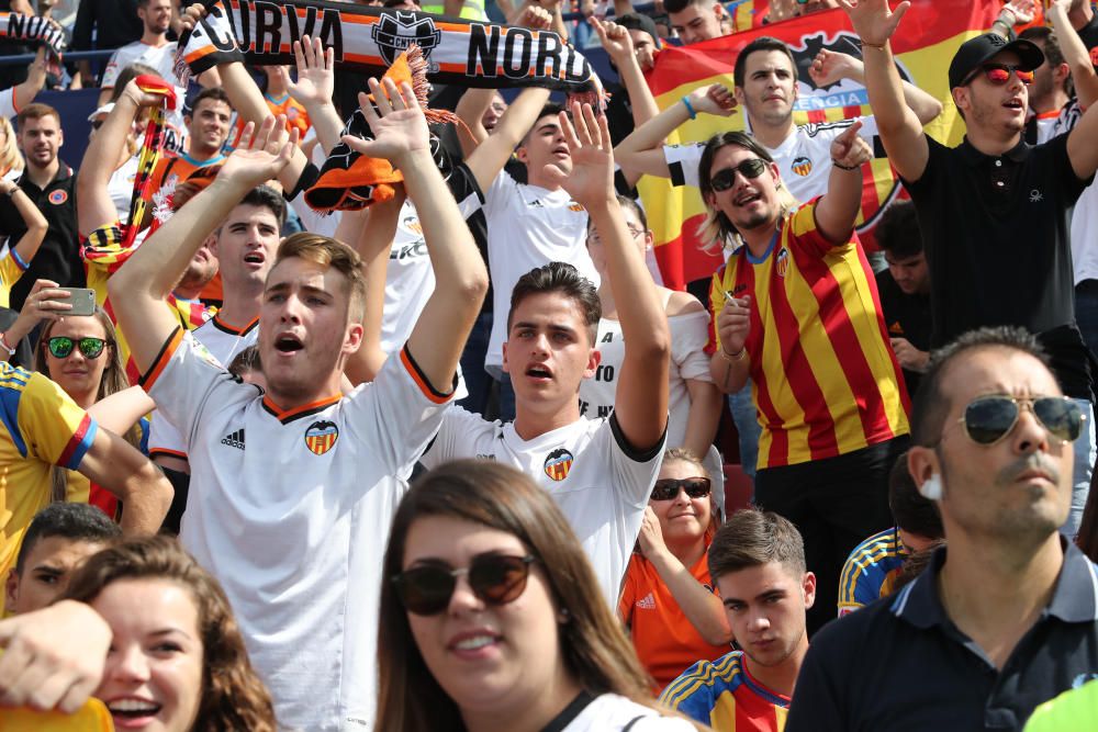
{"type": "MultiPolygon", "coordinates": [[[[504,531],[426,516],[408,530],[403,568],[466,568],[486,554],[525,556],[529,550],[504,531]]],[[[537,562],[529,565],[525,590],[511,603],[485,603],[462,575],[442,612],[408,612],[408,622],[427,668],[462,714],[529,708],[563,666],[558,610],[537,562]]]]}

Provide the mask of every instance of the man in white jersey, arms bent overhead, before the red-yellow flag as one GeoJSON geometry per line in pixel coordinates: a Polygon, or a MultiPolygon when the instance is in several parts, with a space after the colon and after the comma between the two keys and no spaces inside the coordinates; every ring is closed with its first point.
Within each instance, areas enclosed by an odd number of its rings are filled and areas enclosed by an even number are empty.
{"type": "MultiPolygon", "coordinates": [[[[820,52],[810,72],[818,86],[863,78],[859,59],[831,52],[820,52]]],[[[793,108],[799,97],[797,67],[784,41],[763,36],[749,43],[736,57],[732,78],[736,103],[746,110],[747,132],[774,158],[789,193],[802,203],[824,195],[831,172],[831,143],[854,121],[794,123],[793,108]]],[[[735,113],[736,105],[720,108],[707,104],[705,98],[706,90],[697,89],[686,98],[690,106],[685,102],[673,104],[638,127],[615,148],[618,165],[627,173],[659,176],[676,185],[696,187],[704,144],[664,146],[663,140],[698,112],[724,116],[735,113]]],[[[904,99],[923,124],[942,111],[941,102],[907,82],[904,99]]],[[[873,116],[859,119],[861,136],[872,144],[876,136],[873,116]]]]}

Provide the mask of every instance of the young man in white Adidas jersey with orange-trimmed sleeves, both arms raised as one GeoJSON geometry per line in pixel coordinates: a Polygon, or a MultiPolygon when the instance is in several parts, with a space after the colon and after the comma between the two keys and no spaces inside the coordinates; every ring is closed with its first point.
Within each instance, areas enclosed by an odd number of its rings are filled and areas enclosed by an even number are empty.
{"type": "Polygon", "coordinates": [[[340,394],[361,344],[366,293],[358,256],[334,239],[298,234],[279,248],[259,316],[266,394],[213,363],[152,306],[213,222],[289,161],[296,133],[282,144],[271,120],[250,149],[246,127],[214,182],[111,280],[143,384],[187,442],[183,545],[224,586],[280,722],[307,730],[369,729],[378,558],[402,478],[441,421],[488,288],[412,89],[386,81],[383,93],[371,80],[371,92],[378,112],[367,103],[363,114],[376,139],[348,142],[402,171],[445,275],[407,345],[370,385],[340,394]]]}

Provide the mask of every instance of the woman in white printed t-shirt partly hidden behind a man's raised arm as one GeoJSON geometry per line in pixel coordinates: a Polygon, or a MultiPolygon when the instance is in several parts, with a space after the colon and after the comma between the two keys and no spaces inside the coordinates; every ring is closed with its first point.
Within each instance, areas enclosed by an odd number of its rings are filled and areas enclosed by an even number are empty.
{"type": "MultiPolygon", "coordinates": [[[[641,254],[652,248],[652,232],[645,212],[632,199],[617,196],[626,227],[641,254]]],[[[595,344],[601,354],[594,379],[580,383],[580,403],[589,417],[604,417],[614,408],[617,374],[625,361],[625,342],[618,320],[617,303],[606,272],[606,254],[593,226],[587,228],[587,252],[602,284],[598,300],[603,315],[598,320],[595,344]]],[[[709,357],[705,344],[709,337],[709,314],[705,306],[687,292],[657,286],[671,330],[671,370],[669,374],[668,444],[681,446],[702,455],[718,478],[718,493],[724,491],[720,454],[713,447],[722,403],[709,375],[709,357]]],[[[722,494],[721,494],[722,495],[722,494]]]]}

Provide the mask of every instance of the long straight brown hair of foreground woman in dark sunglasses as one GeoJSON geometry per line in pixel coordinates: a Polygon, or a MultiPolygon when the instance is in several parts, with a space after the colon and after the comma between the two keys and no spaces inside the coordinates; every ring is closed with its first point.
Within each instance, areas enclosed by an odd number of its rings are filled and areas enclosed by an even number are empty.
{"type": "Polygon", "coordinates": [[[402,570],[408,530],[424,516],[449,516],[517,537],[545,570],[558,607],[568,610],[569,620],[560,626],[560,653],[569,675],[590,694],[619,694],[657,708],[632,645],[549,494],[506,465],[461,460],[421,477],[393,520],[378,622],[378,732],[464,730],[457,703],[432,676],[415,644],[391,582],[402,570]]]}

